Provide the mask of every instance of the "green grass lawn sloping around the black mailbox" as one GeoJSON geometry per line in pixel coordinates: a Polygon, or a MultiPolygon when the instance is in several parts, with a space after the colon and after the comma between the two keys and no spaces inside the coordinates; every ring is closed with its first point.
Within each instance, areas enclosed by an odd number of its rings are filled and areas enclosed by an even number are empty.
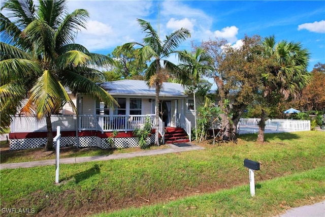
{"type": "Polygon", "coordinates": [[[129,207],[143,208],[112,215],[247,216],[252,208],[253,215],[269,216],[325,196],[323,132],[267,134],[264,144],[254,140],[256,135],[243,135],[237,144],[206,144],[198,151],[62,164],[59,185],[55,166],[1,170],[1,208],[34,208],[42,216],[129,207]],[[261,163],[254,198],[245,158],[261,163]]]}

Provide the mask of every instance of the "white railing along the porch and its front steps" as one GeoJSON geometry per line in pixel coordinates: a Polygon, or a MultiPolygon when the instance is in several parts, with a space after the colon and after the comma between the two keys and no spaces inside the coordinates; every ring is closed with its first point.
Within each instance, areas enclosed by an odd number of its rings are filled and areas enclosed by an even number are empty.
{"type": "MultiPolygon", "coordinates": [[[[152,127],[154,128],[155,114],[145,115],[52,115],[52,130],[55,131],[60,126],[61,131],[85,131],[96,130],[101,132],[113,131],[133,131],[141,128],[149,117],[152,127]]],[[[29,132],[46,132],[46,119],[38,119],[37,117],[12,117],[11,133],[29,133],[29,132]]],[[[177,127],[182,127],[189,139],[191,138],[191,122],[181,115],[177,118],[177,127]]],[[[164,142],[165,123],[159,118],[159,134],[164,142]]]]}

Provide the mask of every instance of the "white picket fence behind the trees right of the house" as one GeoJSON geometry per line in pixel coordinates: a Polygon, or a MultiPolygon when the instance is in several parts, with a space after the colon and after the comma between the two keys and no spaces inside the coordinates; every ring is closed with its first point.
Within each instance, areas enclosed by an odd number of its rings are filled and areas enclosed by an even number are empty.
{"type": "MultiPolygon", "coordinates": [[[[259,120],[261,118],[240,118],[237,134],[257,133],[259,120]]],[[[265,133],[310,131],[310,120],[268,119],[265,123],[265,133]]]]}

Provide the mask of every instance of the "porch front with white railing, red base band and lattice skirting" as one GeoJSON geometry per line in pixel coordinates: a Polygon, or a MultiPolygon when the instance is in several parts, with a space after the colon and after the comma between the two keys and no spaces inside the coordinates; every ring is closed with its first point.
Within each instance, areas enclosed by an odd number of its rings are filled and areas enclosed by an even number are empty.
{"type": "MultiPolygon", "coordinates": [[[[136,128],[141,128],[146,119],[151,121],[154,129],[155,114],[146,115],[52,115],[53,136],[56,135],[56,127],[60,126],[60,146],[77,146],[101,148],[127,148],[137,147],[138,141],[133,135],[136,128]],[[118,132],[113,136],[113,132],[118,132]],[[114,146],[108,144],[107,139],[114,138],[114,146]]],[[[173,118],[172,125],[183,128],[188,138],[191,138],[191,123],[180,115],[173,118]]],[[[13,117],[11,132],[9,134],[10,149],[37,148],[46,144],[46,120],[38,120],[37,117],[13,117]]],[[[159,118],[158,127],[161,143],[165,140],[165,123],[159,118]]],[[[154,142],[154,135],[147,140],[154,142]]]]}

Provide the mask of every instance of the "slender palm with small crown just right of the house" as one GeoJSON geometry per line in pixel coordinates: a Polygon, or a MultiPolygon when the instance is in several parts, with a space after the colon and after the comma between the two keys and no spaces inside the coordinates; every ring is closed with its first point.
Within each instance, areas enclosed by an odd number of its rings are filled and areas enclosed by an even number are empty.
{"type": "Polygon", "coordinates": [[[211,57],[199,47],[193,53],[186,50],[178,52],[178,58],[181,63],[179,64],[181,74],[178,77],[183,85],[191,86],[193,89],[195,139],[198,141],[196,88],[206,71],[212,70],[208,65],[211,62],[211,57]]]}

